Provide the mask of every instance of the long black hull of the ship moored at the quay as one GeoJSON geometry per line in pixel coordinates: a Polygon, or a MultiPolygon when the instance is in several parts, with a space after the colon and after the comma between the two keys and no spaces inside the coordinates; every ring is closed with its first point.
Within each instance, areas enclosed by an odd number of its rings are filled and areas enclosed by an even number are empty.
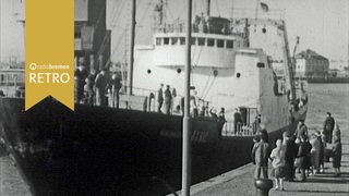
{"type": "MultiPolygon", "coordinates": [[[[180,188],[182,117],[1,98],[1,137],[34,195],[159,195],[180,188]],[[172,188],[169,188],[172,187],[172,188]]],[[[252,136],[192,121],[192,183],[251,161],[252,136]]],[[[269,133],[274,144],[296,122],[269,133]]]]}

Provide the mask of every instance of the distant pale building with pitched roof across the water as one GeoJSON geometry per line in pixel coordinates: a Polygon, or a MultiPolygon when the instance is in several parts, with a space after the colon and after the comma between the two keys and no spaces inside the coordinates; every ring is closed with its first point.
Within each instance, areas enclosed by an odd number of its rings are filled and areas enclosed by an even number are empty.
{"type": "Polygon", "coordinates": [[[296,76],[325,77],[329,61],[313,50],[305,50],[296,56],[296,76]]]}

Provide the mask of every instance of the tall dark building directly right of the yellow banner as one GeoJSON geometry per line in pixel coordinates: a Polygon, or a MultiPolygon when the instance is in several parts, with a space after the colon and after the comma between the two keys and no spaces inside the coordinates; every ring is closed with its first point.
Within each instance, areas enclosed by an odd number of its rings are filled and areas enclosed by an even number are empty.
{"type": "Polygon", "coordinates": [[[75,0],[75,66],[87,70],[109,66],[110,30],[106,29],[106,0],[75,0]]]}

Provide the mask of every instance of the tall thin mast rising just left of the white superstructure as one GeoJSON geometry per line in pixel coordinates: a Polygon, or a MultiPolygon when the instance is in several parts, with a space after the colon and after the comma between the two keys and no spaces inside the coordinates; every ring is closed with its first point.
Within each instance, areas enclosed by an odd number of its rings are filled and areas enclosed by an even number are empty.
{"type": "Polygon", "coordinates": [[[135,30],[135,4],[136,0],[131,2],[131,34],[130,34],[130,59],[128,66],[128,95],[132,95],[133,88],[133,53],[134,53],[134,30],[135,30]]]}

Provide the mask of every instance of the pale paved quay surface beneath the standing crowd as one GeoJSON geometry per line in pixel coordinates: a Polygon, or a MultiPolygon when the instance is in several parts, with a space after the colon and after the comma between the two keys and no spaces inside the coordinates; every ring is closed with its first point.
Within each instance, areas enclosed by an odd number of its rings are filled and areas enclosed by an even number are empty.
{"type": "MultiPolygon", "coordinates": [[[[345,130],[347,131],[347,130],[345,130]]],[[[308,177],[305,182],[285,182],[285,191],[269,191],[269,196],[349,196],[349,132],[341,132],[341,175],[335,177],[332,162],[325,163],[325,173],[308,177]]],[[[269,170],[270,171],[270,166],[269,170]]],[[[249,163],[205,182],[191,186],[193,196],[254,196],[254,164],[249,163]]],[[[299,177],[299,174],[296,175],[299,177]]],[[[180,192],[178,193],[180,195],[180,192]]]]}

